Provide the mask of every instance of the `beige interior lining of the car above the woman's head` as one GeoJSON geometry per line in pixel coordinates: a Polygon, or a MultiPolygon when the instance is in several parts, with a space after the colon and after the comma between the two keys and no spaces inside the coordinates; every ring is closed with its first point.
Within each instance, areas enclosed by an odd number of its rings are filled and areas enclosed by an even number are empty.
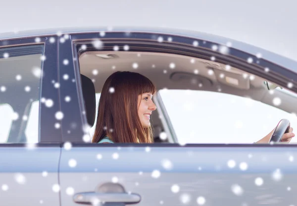
{"type": "MultiPolygon", "coordinates": [[[[211,60],[167,53],[86,51],[79,56],[79,67],[86,115],[91,127],[94,125],[96,112],[95,93],[100,93],[107,77],[115,71],[139,72],[147,76],[155,84],[157,90],[166,88],[221,92],[249,97],[274,107],[276,105],[273,99],[279,97],[282,103],[277,105],[278,108],[296,113],[296,107],[292,104],[296,101],[295,93],[280,89],[277,85],[238,68],[211,60]]],[[[156,101],[155,98],[154,102],[156,101]]],[[[160,103],[157,101],[157,104],[160,103]]],[[[155,142],[168,141],[159,137],[161,132],[170,133],[166,121],[160,118],[164,115],[164,110],[166,112],[166,109],[157,109],[151,116],[155,142]]]]}

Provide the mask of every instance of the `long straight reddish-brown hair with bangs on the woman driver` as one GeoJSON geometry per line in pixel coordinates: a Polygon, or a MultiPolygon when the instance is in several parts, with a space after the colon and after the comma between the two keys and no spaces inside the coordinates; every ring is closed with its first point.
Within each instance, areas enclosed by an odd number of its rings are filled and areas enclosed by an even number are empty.
{"type": "Polygon", "coordinates": [[[138,116],[138,96],[156,92],[145,76],[117,71],[105,81],[98,107],[96,130],[92,142],[109,137],[113,142],[152,143],[151,127],[143,128],[138,116]]]}

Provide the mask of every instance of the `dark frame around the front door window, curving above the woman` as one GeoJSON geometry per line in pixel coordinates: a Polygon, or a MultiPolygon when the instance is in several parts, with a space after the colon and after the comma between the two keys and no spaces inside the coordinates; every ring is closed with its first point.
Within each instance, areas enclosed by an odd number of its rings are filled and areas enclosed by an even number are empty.
{"type": "MultiPolygon", "coordinates": [[[[105,32],[105,31],[104,31],[105,32]]],[[[297,73],[294,71],[284,68],[280,65],[276,65],[272,62],[266,61],[265,58],[257,58],[256,55],[247,53],[245,51],[241,51],[239,49],[235,49],[229,47],[229,54],[224,55],[218,51],[213,50],[213,45],[216,45],[217,48],[221,45],[219,42],[212,42],[206,39],[200,39],[195,37],[181,36],[181,35],[172,35],[172,34],[159,34],[159,33],[149,33],[149,32],[130,32],[127,34],[126,31],[107,31],[104,36],[99,35],[98,32],[90,32],[90,33],[79,33],[79,34],[69,34],[71,42],[68,44],[68,50],[64,50],[63,52],[68,52],[68,54],[72,54],[72,61],[74,64],[73,70],[78,76],[80,74],[79,68],[79,56],[85,52],[90,51],[89,49],[84,51],[78,51],[77,46],[81,44],[91,44],[93,40],[100,39],[104,43],[104,47],[100,49],[100,51],[113,51],[113,45],[118,45],[120,48],[126,44],[129,44],[129,51],[135,52],[162,52],[162,53],[170,53],[170,54],[179,54],[188,57],[197,57],[209,60],[211,57],[215,57],[215,62],[228,64],[232,67],[236,67],[242,69],[246,72],[252,73],[259,77],[265,78],[268,81],[275,82],[278,85],[283,86],[293,92],[297,92],[297,86],[294,85],[292,88],[288,88],[287,83],[292,79],[297,79],[297,73]],[[163,41],[158,42],[158,37],[162,36],[163,39],[172,38],[174,41],[163,41]],[[194,46],[193,42],[198,41],[198,46],[194,46]],[[132,45],[133,44],[133,45],[132,45]],[[142,47],[142,49],[137,48],[142,47]],[[143,48],[146,48],[144,50],[143,48]],[[248,63],[248,58],[253,58],[255,63],[248,63]],[[269,72],[266,71],[265,68],[269,68],[269,72]]],[[[94,51],[94,49],[93,49],[94,51]]],[[[69,55],[68,55],[69,56],[69,55]]],[[[84,113],[84,100],[82,96],[82,89],[80,79],[76,78],[77,81],[77,94],[78,94],[78,107],[80,108],[79,113],[80,121],[82,125],[86,125],[87,118],[84,113]]],[[[163,113],[166,111],[162,111],[163,113]]],[[[77,113],[77,112],[76,112],[77,113]]],[[[168,121],[168,120],[167,120],[168,121]]],[[[170,128],[170,123],[167,122],[168,128],[170,128]]],[[[171,131],[174,134],[174,131],[171,131]]],[[[64,134],[64,133],[63,133],[64,134]]],[[[173,135],[174,136],[174,135],[173,135]]],[[[174,138],[174,137],[173,137],[174,138]]],[[[70,140],[71,138],[63,138],[63,140],[70,140]]],[[[82,139],[74,138],[74,141],[80,141],[81,143],[85,143],[82,139]]]]}

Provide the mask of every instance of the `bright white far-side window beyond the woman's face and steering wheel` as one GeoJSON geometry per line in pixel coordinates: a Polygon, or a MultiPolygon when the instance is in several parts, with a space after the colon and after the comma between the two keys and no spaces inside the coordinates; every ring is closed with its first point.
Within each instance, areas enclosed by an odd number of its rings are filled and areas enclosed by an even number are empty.
{"type": "Polygon", "coordinates": [[[297,126],[296,114],[247,97],[169,89],[159,90],[159,97],[183,143],[252,143],[283,118],[290,120],[291,127],[297,126]]]}

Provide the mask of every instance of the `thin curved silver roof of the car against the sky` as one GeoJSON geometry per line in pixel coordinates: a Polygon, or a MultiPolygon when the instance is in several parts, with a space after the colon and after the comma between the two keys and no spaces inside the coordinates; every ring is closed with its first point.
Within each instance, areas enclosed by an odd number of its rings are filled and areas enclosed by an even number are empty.
{"type": "Polygon", "coordinates": [[[231,43],[231,47],[245,51],[252,55],[260,54],[261,58],[272,62],[281,67],[290,69],[297,72],[297,62],[275,54],[273,52],[267,51],[265,49],[237,41],[234,39],[226,38],[223,36],[218,36],[214,34],[207,34],[197,31],[190,30],[179,30],[179,29],[169,29],[169,28],[149,28],[149,27],[70,27],[70,28],[52,28],[43,30],[29,30],[29,31],[19,31],[10,33],[0,33],[0,40],[4,39],[14,39],[14,38],[24,38],[24,37],[34,37],[34,36],[45,36],[45,35],[55,35],[58,32],[61,34],[84,34],[84,33],[94,33],[100,31],[112,31],[112,32],[144,32],[144,33],[156,33],[156,34],[168,34],[168,35],[179,35],[187,36],[193,38],[199,38],[206,41],[211,41],[218,44],[226,45],[227,42],[231,43]]]}

